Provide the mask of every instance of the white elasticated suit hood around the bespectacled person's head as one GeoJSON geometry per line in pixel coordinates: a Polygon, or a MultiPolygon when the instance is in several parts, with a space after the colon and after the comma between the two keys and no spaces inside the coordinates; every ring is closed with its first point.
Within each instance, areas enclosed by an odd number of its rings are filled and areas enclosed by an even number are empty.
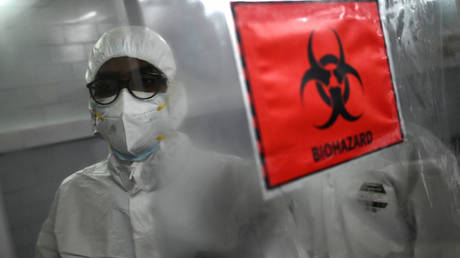
{"type": "MultiPolygon", "coordinates": [[[[94,45],[86,70],[86,81],[96,78],[101,66],[116,57],[144,60],[160,69],[168,78],[167,110],[171,129],[177,129],[183,121],[187,102],[183,87],[175,82],[176,64],[169,45],[156,32],[141,26],[125,26],[104,33],[94,45]]],[[[91,100],[89,109],[93,125],[99,119],[94,113],[96,104],[91,100]]],[[[93,126],[96,132],[96,126],[93,126]]]]}

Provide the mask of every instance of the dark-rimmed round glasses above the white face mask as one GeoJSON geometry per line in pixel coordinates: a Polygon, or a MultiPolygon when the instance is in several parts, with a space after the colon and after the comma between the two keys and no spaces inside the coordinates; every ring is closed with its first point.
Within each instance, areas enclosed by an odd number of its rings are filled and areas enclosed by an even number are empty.
{"type": "Polygon", "coordinates": [[[135,98],[153,98],[159,92],[166,92],[168,79],[161,73],[145,73],[129,80],[96,79],[86,87],[97,104],[108,105],[117,99],[123,88],[127,88],[135,98]]]}

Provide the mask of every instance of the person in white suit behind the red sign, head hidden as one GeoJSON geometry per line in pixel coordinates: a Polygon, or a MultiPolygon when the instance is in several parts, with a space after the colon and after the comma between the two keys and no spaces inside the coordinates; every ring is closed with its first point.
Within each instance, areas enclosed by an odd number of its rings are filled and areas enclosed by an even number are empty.
{"type": "Polygon", "coordinates": [[[459,186],[455,156],[408,124],[403,143],[281,190],[249,231],[273,258],[460,257],[459,186]]]}

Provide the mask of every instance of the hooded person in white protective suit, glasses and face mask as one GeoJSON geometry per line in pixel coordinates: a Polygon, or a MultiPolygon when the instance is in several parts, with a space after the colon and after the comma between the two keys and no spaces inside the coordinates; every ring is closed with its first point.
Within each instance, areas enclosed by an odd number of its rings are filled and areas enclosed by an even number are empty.
{"type": "Polygon", "coordinates": [[[244,162],[193,148],[176,131],[186,103],[175,69],[166,41],[147,28],[115,28],[96,42],[90,112],[110,153],[59,186],[36,257],[236,257],[256,195],[237,174],[244,162]]]}

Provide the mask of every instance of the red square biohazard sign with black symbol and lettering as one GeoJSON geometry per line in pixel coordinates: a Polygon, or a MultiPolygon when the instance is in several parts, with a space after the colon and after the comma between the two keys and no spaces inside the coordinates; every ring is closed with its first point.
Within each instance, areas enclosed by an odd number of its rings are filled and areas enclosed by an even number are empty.
{"type": "Polygon", "coordinates": [[[231,6],[267,188],[403,140],[376,1],[231,6]]]}

